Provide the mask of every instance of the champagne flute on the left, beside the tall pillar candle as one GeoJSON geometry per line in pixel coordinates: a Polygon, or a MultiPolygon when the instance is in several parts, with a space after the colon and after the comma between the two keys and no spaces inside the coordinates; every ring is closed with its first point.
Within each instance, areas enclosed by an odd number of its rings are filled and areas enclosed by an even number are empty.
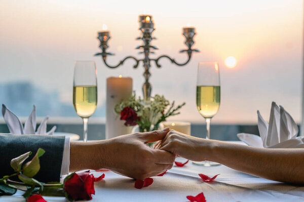
{"type": "Polygon", "coordinates": [[[76,61],[73,82],[73,105],[84,122],[84,142],[88,141],[88,119],[97,106],[97,70],[94,61],[76,61]]]}

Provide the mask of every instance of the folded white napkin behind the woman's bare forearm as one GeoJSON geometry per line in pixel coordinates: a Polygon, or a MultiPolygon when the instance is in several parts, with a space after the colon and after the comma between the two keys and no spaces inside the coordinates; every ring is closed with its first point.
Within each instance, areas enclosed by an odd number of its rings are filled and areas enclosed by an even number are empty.
{"type": "Polygon", "coordinates": [[[239,139],[255,147],[304,148],[304,137],[296,137],[298,127],[291,115],[275,102],[271,105],[269,124],[257,111],[257,127],[260,136],[239,133],[239,139]]]}

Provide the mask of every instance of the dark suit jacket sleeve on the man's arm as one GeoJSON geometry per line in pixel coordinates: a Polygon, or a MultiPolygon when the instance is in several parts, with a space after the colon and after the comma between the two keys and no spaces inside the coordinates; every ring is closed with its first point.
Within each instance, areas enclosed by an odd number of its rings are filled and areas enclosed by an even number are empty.
{"type": "MultiPolygon", "coordinates": [[[[59,181],[64,149],[64,136],[0,134],[0,178],[11,175],[12,158],[31,151],[31,160],[37,149],[46,152],[40,157],[40,171],[33,178],[41,182],[59,181]]],[[[27,161],[28,161],[27,160],[27,161]]]]}

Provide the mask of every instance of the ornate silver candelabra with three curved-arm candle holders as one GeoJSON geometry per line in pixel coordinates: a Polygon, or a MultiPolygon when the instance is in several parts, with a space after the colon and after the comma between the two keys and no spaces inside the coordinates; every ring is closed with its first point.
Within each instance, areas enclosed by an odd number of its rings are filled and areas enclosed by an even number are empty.
{"type": "MultiPolygon", "coordinates": [[[[188,59],[184,63],[178,63],[174,59],[170,58],[167,55],[161,55],[156,59],[151,59],[149,56],[150,56],[150,54],[153,54],[154,52],[150,51],[150,50],[157,50],[158,49],[157,47],[151,46],[151,44],[150,44],[153,39],[156,39],[155,37],[152,36],[152,32],[155,30],[154,23],[153,23],[153,20],[152,20],[152,16],[150,16],[150,15],[140,15],[139,16],[139,25],[140,25],[139,30],[141,31],[141,36],[137,37],[136,39],[137,40],[142,40],[143,45],[137,46],[136,49],[142,49],[143,50],[142,52],[140,52],[140,53],[144,54],[143,59],[136,59],[133,56],[128,56],[128,57],[125,57],[123,60],[121,60],[117,65],[113,65],[113,66],[109,65],[106,62],[106,57],[108,55],[114,55],[114,54],[106,52],[107,48],[109,47],[108,46],[108,40],[110,39],[109,31],[107,31],[107,30],[103,30],[101,32],[98,32],[98,37],[97,38],[100,41],[99,48],[101,49],[102,52],[101,53],[96,53],[95,56],[101,55],[104,64],[109,68],[117,68],[120,65],[124,64],[124,62],[128,59],[133,59],[135,61],[135,65],[133,67],[137,68],[139,62],[142,61],[143,62],[143,67],[144,67],[143,76],[145,78],[145,82],[143,83],[143,86],[142,86],[142,92],[143,92],[144,99],[148,100],[150,95],[151,95],[151,90],[152,90],[151,84],[149,83],[149,77],[151,75],[151,73],[149,71],[150,67],[151,67],[151,64],[150,64],[151,61],[154,61],[158,68],[161,67],[161,65],[159,64],[159,60],[161,58],[167,58],[172,63],[174,63],[178,66],[183,66],[183,65],[186,65],[190,61],[191,56],[192,56],[192,52],[199,52],[199,50],[192,49],[192,46],[194,45],[194,35],[196,34],[195,33],[195,27],[184,27],[182,34],[185,36],[184,44],[187,46],[187,49],[180,51],[180,53],[183,53],[183,52],[187,53],[188,59]]],[[[103,29],[106,29],[106,27],[103,27],[103,29]]]]}

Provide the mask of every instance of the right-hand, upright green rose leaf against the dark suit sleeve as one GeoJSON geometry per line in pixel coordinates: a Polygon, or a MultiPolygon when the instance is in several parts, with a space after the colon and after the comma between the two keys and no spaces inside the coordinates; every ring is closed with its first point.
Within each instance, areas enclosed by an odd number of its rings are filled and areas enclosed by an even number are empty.
{"type": "Polygon", "coordinates": [[[40,170],[40,160],[39,157],[42,156],[45,153],[45,150],[42,148],[39,148],[34,155],[33,159],[29,162],[27,162],[23,166],[23,174],[26,175],[27,177],[33,177],[35,176],[39,170],[40,170]]]}

